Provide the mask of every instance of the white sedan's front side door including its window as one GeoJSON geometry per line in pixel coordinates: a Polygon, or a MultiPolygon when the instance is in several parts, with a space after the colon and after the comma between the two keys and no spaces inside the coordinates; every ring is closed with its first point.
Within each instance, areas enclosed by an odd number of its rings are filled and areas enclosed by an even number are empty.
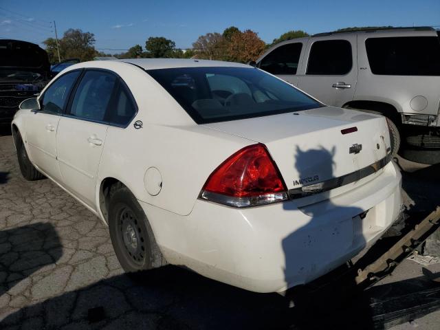
{"type": "Polygon", "coordinates": [[[58,123],[79,75],[80,70],[76,70],[56,79],[39,98],[41,110],[33,111],[26,122],[26,141],[30,159],[56,181],[61,179],[56,162],[58,123]]]}

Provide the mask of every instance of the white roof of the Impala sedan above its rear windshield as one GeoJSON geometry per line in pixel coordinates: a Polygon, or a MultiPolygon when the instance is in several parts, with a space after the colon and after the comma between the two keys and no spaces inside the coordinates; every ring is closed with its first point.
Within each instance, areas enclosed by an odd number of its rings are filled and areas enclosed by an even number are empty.
{"type": "Polygon", "coordinates": [[[171,69],[177,67],[250,67],[241,63],[209,61],[197,59],[181,59],[181,58],[129,58],[118,60],[142,67],[142,69],[171,69]]]}

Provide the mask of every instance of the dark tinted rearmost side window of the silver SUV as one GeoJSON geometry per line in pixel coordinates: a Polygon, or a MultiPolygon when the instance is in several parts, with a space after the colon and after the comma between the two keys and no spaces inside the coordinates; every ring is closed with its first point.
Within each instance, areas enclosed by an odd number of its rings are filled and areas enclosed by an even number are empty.
{"type": "Polygon", "coordinates": [[[440,76],[440,41],[435,36],[369,38],[366,54],[373,74],[440,76]]]}

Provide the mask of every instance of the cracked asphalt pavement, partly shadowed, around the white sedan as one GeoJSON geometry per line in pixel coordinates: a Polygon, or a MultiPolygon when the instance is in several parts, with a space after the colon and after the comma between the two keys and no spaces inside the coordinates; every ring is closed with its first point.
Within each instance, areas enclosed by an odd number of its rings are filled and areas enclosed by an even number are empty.
{"type": "MultiPolygon", "coordinates": [[[[429,188],[420,179],[407,180],[407,199],[429,209],[438,181],[429,188]]],[[[417,276],[420,265],[405,261],[377,287],[390,292],[393,281],[417,276]]],[[[278,294],[246,292],[173,266],[134,281],[115,257],[107,226],[49,179],[25,181],[12,137],[0,137],[0,329],[314,329],[314,320],[296,325],[290,307],[278,294]]],[[[438,325],[439,314],[420,324],[438,325]]],[[[354,315],[345,325],[364,329],[370,317],[354,315]]]]}

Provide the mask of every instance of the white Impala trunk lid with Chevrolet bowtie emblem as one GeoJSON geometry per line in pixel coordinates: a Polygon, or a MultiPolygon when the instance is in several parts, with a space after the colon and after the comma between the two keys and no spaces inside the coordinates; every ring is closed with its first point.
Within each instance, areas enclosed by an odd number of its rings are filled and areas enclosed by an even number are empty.
{"type": "Polygon", "coordinates": [[[390,148],[384,117],[336,107],[204,126],[265,144],[289,190],[334,183],[384,159],[390,148]],[[342,134],[352,127],[357,131],[342,134]]]}

